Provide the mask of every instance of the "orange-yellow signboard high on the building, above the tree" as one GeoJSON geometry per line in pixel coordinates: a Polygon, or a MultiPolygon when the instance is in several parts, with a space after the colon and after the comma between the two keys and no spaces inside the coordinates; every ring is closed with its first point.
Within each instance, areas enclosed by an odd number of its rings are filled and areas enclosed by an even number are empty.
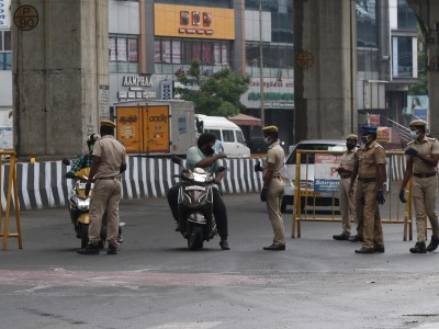
{"type": "Polygon", "coordinates": [[[225,8],[154,4],[154,34],[235,39],[235,11],[225,8]]]}

